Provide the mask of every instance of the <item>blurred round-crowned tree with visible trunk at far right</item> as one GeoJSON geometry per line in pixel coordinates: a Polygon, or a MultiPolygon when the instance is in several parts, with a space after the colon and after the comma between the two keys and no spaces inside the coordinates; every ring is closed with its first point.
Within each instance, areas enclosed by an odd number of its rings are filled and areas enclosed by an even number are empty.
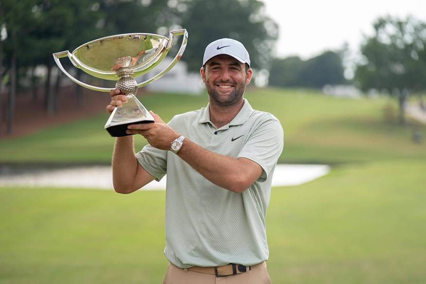
{"type": "Polygon", "coordinates": [[[363,61],[355,81],[366,91],[386,90],[397,98],[399,121],[405,122],[404,104],[410,92],[426,89],[426,24],[408,17],[378,18],[374,35],[361,45],[363,61]]]}

